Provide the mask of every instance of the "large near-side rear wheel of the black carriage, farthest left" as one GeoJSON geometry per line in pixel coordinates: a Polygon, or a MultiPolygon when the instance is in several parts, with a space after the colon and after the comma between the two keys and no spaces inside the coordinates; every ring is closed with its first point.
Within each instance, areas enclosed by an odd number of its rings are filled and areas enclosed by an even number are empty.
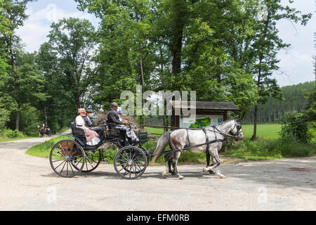
{"type": "Polygon", "coordinates": [[[79,143],[62,140],[53,146],[49,161],[53,171],[62,177],[76,176],[84,168],[86,154],[79,143]]]}

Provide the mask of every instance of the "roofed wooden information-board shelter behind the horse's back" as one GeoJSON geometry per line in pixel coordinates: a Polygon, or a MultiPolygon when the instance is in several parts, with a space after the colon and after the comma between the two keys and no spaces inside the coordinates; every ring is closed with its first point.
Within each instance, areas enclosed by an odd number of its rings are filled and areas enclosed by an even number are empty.
{"type": "Polygon", "coordinates": [[[182,101],[172,101],[172,115],[171,115],[171,127],[178,128],[199,128],[206,127],[208,125],[215,125],[223,120],[227,120],[228,111],[236,111],[239,108],[233,102],[218,102],[218,101],[196,101],[195,102],[195,121],[187,116],[183,115],[183,108],[192,110],[194,107],[190,101],[187,102],[187,106],[182,101]],[[180,115],[176,115],[176,112],[180,115]]]}

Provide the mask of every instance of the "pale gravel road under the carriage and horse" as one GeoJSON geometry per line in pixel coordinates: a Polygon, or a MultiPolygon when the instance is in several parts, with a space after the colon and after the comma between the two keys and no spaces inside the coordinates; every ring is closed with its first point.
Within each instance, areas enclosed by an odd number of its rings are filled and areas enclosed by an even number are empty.
{"type": "Polygon", "coordinates": [[[66,179],[25,154],[48,139],[0,143],[0,210],[316,210],[315,157],[222,163],[226,179],[182,165],[183,180],[149,166],[130,181],[107,164],[66,179]]]}

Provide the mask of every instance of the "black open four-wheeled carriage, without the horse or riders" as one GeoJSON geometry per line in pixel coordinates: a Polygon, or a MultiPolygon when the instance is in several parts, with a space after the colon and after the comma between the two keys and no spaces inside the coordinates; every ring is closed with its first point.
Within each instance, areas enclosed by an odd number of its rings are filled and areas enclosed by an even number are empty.
{"type": "Polygon", "coordinates": [[[84,129],[70,123],[72,136],[70,139],[59,141],[53,146],[50,162],[53,171],[63,177],[72,177],[80,172],[91,172],[103,161],[103,150],[98,149],[104,143],[113,143],[119,150],[114,157],[114,168],[125,179],[140,177],[148,165],[150,151],[143,143],[147,141],[147,132],[138,132],[138,143],[126,146],[121,140],[117,126],[103,122],[103,136],[95,146],[86,144],[84,129]]]}

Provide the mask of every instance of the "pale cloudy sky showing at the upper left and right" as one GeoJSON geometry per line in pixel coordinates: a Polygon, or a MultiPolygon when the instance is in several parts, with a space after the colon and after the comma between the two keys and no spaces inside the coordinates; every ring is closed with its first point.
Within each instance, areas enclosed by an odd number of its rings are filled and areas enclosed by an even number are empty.
{"type": "MultiPolygon", "coordinates": [[[[287,5],[289,0],[282,0],[283,5],[287,5]]],[[[277,28],[279,37],[285,43],[291,44],[287,50],[278,53],[279,72],[274,72],[272,77],[277,79],[279,86],[299,84],[315,80],[313,68],[316,56],[314,48],[314,32],[316,32],[316,2],[315,0],[296,0],[290,4],[302,13],[313,13],[308,25],[301,26],[292,24],[289,20],[279,20],[277,28]]],[[[47,35],[51,30],[52,22],[57,22],[62,18],[85,18],[98,27],[99,19],[93,14],[81,12],[77,9],[74,0],[38,0],[27,4],[27,14],[29,18],[20,27],[17,34],[25,44],[25,50],[29,52],[38,51],[39,46],[48,41],[47,35]]]]}

